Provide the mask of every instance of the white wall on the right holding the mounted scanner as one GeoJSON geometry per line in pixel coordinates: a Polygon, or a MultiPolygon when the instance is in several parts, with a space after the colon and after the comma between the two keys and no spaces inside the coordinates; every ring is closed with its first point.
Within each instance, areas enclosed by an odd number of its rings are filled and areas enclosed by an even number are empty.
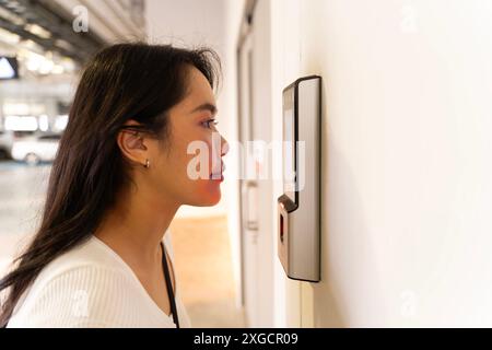
{"type": "Polygon", "coordinates": [[[297,287],[303,313],[492,326],[492,2],[271,1],[273,90],[324,78],[323,281],[297,287]]]}

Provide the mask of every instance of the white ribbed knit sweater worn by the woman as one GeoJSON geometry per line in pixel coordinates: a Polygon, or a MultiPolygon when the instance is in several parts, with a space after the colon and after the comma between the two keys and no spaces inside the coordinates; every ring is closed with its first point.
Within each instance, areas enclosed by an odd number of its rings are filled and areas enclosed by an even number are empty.
{"type": "MultiPolygon", "coordinates": [[[[169,259],[169,232],[164,235],[169,259]]],[[[180,327],[191,327],[180,301],[180,327]]],[[[92,236],[47,265],[17,302],[8,324],[19,327],[149,327],[174,328],[131,268],[109,246],[92,236]]]]}

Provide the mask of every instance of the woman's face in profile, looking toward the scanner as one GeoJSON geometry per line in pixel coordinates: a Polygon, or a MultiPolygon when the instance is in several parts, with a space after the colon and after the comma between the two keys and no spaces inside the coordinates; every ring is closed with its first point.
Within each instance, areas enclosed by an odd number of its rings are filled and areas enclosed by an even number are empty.
{"type": "Polygon", "coordinates": [[[227,142],[215,128],[215,98],[207,78],[190,68],[188,94],[168,114],[169,133],[152,142],[152,188],[179,205],[213,206],[221,199],[227,142]]]}

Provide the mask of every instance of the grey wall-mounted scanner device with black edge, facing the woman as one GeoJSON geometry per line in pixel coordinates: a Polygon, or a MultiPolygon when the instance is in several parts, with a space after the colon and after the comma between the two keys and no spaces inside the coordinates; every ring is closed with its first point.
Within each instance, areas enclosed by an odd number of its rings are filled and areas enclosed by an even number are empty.
{"type": "Polygon", "coordinates": [[[278,199],[279,258],[289,278],[320,280],[321,78],[283,90],[283,195],[278,199]]]}

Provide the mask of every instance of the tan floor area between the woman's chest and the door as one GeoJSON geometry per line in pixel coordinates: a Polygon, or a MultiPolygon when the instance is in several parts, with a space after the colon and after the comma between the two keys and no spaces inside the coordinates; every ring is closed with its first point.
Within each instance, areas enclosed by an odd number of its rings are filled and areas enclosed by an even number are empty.
{"type": "Polygon", "coordinates": [[[175,219],[169,228],[183,302],[194,327],[245,327],[235,305],[226,217],[175,219]]]}

